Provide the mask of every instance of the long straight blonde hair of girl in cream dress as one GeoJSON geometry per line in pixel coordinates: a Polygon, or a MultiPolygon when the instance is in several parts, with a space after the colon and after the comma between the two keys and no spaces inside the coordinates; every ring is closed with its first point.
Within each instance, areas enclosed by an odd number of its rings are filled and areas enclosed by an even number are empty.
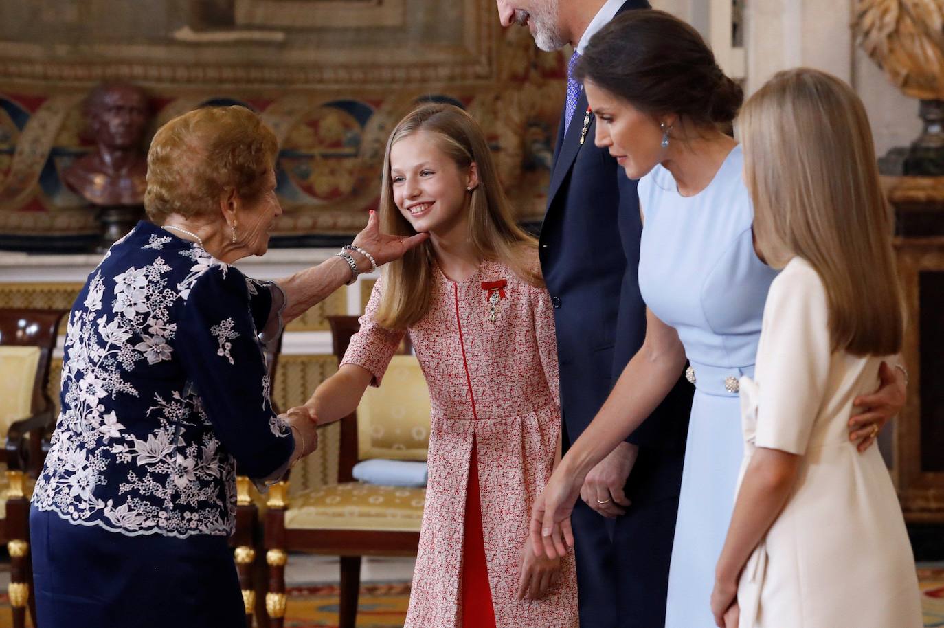
{"type": "Polygon", "coordinates": [[[817,270],[834,350],[898,352],[904,321],[894,217],[862,101],[834,76],[788,70],[750,97],[738,126],[767,263],[799,255],[817,270]]]}

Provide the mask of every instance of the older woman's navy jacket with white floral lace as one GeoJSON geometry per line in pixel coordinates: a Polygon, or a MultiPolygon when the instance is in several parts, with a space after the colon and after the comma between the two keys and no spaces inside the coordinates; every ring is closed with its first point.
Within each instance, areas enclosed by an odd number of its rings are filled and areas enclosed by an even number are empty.
{"type": "Polygon", "coordinates": [[[141,222],[69,315],[62,411],[34,507],[124,535],[228,535],[240,473],[284,467],[258,331],[284,298],[141,222]]]}

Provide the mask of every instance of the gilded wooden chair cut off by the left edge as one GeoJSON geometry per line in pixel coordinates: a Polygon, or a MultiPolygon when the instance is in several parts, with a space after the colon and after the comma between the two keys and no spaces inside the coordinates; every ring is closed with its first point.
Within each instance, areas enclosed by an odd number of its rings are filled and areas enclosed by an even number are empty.
{"type": "Polygon", "coordinates": [[[0,462],[0,539],[10,556],[9,603],[13,626],[25,626],[30,600],[29,492],[42,471],[56,406],[47,392],[57,328],[65,310],[0,309],[0,431],[5,435],[0,462]],[[44,444],[45,443],[45,444],[44,444]]]}

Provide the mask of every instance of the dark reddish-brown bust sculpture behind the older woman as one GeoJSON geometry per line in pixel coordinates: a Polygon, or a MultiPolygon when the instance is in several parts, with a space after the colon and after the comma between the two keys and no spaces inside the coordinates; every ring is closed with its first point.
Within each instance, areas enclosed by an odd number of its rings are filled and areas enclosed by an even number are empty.
{"type": "Polygon", "coordinates": [[[140,206],[147,174],[141,149],[147,96],[126,83],[102,84],[86,99],[85,113],[97,147],[66,169],[63,178],[93,205],[140,206]]]}

